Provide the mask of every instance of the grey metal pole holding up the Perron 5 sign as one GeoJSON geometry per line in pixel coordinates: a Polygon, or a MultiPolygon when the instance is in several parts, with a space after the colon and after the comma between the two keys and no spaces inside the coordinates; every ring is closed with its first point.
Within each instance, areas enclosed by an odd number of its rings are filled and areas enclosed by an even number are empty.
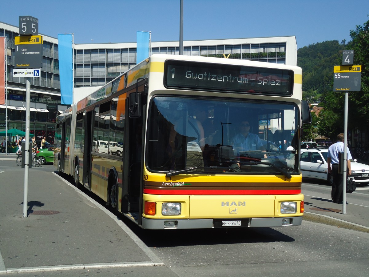
{"type": "MultiPolygon", "coordinates": [[[[28,163],[30,161],[30,103],[31,103],[31,77],[26,77],[26,109],[25,109],[25,144],[22,159],[24,159],[24,195],[23,217],[26,218],[28,209],[28,163]]],[[[23,150],[23,149],[22,149],[23,150]]]]}

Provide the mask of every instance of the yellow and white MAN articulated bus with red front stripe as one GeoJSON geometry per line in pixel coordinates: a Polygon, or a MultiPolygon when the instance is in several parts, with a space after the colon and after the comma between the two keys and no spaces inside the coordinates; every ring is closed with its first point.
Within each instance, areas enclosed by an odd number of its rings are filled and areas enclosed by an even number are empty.
{"type": "Polygon", "coordinates": [[[58,117],[55,168],[144,229],[301,225],[301,79],[151,55],[58,117]]]}

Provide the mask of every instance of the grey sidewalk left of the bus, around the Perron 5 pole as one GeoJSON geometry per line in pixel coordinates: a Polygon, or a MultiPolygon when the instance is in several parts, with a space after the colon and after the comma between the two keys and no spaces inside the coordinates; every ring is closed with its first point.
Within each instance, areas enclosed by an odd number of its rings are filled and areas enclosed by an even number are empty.
{"type": "Polygon", "coordinates": [[[104,267],[164,274],[162,261],[120,219],[50,165],[29,169],[24,218],[24,168],[15,158],[0,154],[0,275],[104,267]]]}

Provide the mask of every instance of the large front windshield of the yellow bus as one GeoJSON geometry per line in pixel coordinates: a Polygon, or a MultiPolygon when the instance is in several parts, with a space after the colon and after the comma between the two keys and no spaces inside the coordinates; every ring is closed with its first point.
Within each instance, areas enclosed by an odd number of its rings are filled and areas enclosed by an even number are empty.
{"type": "Polygon", "coordinates": [[[293,103],[156,96],[146,164],[166,173],[298,174],[298,115],[293,103]]]}

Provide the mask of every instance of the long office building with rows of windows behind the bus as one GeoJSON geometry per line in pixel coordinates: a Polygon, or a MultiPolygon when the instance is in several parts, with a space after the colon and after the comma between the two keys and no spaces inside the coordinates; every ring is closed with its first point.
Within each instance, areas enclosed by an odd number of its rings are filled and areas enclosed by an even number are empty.
{"type": "MultiPolygon", "coordinates": [[[[0,131],[6,128],[6,114],[8,129],[25,130],[26,78],[13,76],[14,38],[18,35],[19,27],[0,22],[0,37],[6,37],[7,80],[7,105],[0,105],[0,131]]],[[[40,77],[30,78],[30,132],[54,143],[56,116],[68,106],[61,104],[58,39],[42,36],[40,77]]],[[[136,65],[136,43],[74,44],[73,48],[75,101],[136,65]]],[[[179,41],[151,42],[150,51],[179,55],[179,41]]],[[[184,41],[183,55],[296,65],[297,44],[294,36],[184,41]]]]}

